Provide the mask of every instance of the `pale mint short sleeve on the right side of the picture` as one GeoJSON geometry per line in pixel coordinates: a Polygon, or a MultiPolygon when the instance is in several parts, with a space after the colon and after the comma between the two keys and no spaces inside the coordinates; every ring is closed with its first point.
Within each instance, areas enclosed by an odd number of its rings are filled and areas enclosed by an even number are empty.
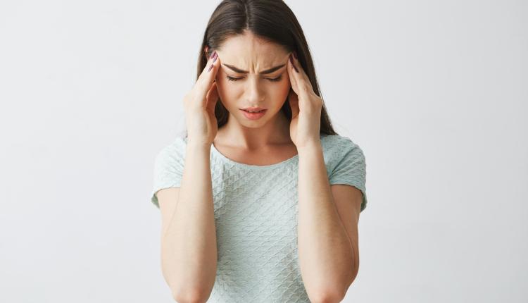
{"type": "Polygon", "coordinates": [[[337,157],[337,164],[329,175],[330,185],[346,184],[356,187],[363,193],[360,212],[367,207],[367,190],[365,187],[367,163],[363,150],[358,144],[353,143],[346,137],[335,142],[333,147],[337,157]]]}

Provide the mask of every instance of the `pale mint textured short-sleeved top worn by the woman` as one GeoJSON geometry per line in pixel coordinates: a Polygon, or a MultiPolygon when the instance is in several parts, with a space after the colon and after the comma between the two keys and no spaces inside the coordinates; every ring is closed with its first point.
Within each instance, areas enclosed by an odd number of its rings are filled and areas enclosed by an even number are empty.
{"type": "MultiPolygon", "coordinates": [[[[187,138],[156,156],[151,202],[156,192],[180,187],[187,138]]],[[[348,137],[321,135],[329,183],[352,185],[367,206],[366,163],[348,137]]],[[[218,247],[215,285],[208,302],[310,302],[298,266],[298,155],[269,166],[210,153],[218,247]]]]}

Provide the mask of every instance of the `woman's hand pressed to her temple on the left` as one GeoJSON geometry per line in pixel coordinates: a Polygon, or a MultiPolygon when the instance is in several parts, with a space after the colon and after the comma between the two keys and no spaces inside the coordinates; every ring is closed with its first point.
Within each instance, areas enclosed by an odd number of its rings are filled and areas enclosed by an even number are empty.
{"type": "Polygon", "coordinates": [[[215,117],[218,90],[215,78],[219,65],[220,60],[215,51],[191,91],[183,98],[188,143],[210,146],[218,132],[218,122],[215,117]]]}

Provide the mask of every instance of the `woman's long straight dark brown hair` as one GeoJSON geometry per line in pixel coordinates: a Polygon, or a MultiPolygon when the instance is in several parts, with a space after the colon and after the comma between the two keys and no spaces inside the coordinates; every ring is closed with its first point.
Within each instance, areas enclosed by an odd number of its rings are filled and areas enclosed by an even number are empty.
{"type": "MultiPolygon", "coordinates": [[[[308,42],[301,25],[289,6],[282,0],[223,0],[213,11],[203,35],[200,47],[196,79],[199,78],[207,60],[215,49],[220,49],[226,39],[244,34],[249,30],[257,37],[282,45],[287,51],[296,51],[298,61],[310,79],[313,92],[321,99],[320,88],[308,42]],[[208,51],[204,49],[208,47],[208,51]]],[[[281,111],[291,120],[291,107],[285,101],[281,111]]],[[[229,111],[222,102],[215,106],[218,128],[227,123],[229,111]]],[[[320,133],[337,135],[327,114],[323,101],[321,109],[320,133]]]]}

